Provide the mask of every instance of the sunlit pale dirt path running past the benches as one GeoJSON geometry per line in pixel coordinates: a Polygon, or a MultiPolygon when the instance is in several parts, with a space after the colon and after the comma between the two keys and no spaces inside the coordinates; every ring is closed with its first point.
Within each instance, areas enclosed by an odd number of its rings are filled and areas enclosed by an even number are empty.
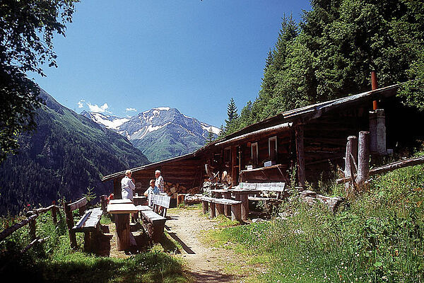
{"type": "Polygon", "coordinates": [[[211,248],[199,241],[200,233],[214,229],[213,221],[200,216],[199,210],[178,209],[167,216],[172,219],[166,221],[165,229],[182,244],[184,251],[179,256],[187,262],[194,282],[240,282],[240,275],[225,270],[233,266],[237,256],[231,250],[211,248]]]}

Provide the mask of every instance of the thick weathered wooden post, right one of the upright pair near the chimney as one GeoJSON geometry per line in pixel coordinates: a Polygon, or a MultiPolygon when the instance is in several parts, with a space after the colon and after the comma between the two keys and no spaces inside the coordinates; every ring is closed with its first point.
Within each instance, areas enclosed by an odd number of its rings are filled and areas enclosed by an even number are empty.
{"type": "Polygon", "coordinates": [[[370,132],[359,132],[358,177],[356,183],[363,187],[370,176],[370,132]]]}

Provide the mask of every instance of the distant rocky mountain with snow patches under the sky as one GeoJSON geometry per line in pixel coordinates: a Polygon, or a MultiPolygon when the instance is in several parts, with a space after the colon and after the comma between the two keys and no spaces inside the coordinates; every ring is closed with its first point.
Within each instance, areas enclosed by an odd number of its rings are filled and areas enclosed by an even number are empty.
{"type": "Polygon", "coordinates": [[[153,162],[195,151],[204,146],[208,131],[215,137],[220,132],[217,127],[168,107],[153,108],[129,118],[86,111],[81,115],[127,137],[153,162]]]}

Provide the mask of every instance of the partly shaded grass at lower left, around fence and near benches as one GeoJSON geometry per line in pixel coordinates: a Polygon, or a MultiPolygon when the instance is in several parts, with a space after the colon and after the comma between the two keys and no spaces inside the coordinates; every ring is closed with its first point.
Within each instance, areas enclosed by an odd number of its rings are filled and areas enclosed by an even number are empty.
{"type": "MultiPolygon", "coordinates": [[[[29,243],[28,226],[0,242],[0,276],[16,282],[187,282],[180,260],[172,257],[160,245],[146,253],[129,258],[106,258],[71,250],[64,215],[58,214],[54,226],[49,213],[37,218],[37,236],[49,237],[23,256],[18,251],[29,243]]],[[[1,219],[1,229],[12,225],[11,219],[1,219]]],[[[15,219],[14,221],[18,221],[15,219]]],[[[103,224],[110,219],[102,217],[103,224]]],[[[77,233],[78,246],[83,246],[83,233],[77,233]]],[[[178,248],[168,240],[174,252],[178,248]]]]}

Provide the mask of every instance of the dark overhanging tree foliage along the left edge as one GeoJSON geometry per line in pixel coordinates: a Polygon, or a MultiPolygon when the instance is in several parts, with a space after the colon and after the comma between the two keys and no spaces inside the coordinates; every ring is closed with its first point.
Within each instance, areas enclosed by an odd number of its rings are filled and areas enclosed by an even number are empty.
{"type": "Polygon", "coordinates": [[[56,67],[55,34],[64,35],[77,0],[4,0],[0,5],[0,162],[16,154],[18,135],[35,128],[42,100],[25,73],[56,67]]]}

